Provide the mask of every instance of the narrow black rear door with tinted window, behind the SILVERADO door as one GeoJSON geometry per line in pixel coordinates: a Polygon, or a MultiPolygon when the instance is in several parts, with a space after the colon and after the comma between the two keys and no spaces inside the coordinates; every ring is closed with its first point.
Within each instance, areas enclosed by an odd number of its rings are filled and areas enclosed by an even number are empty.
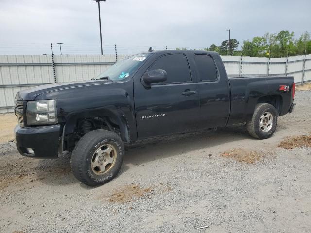
{"type": "Polygon", "coordinates": [[[229,116],[230,92],[221,58],[215,61],[206,53],[195,54],[194,62],[200,98],[199,127],[224,126],[229,116]]]}

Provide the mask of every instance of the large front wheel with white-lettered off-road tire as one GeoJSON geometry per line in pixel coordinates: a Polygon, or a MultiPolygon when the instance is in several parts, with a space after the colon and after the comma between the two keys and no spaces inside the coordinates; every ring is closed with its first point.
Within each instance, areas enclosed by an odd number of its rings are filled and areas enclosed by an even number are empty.
{"type": "Polygon", "coordinates": [[[71,155],[72,172],[86,185],[101,185],[118,174],[123,157],[124,145],[116,133],[94,130],[75,146],[71,155]]]}

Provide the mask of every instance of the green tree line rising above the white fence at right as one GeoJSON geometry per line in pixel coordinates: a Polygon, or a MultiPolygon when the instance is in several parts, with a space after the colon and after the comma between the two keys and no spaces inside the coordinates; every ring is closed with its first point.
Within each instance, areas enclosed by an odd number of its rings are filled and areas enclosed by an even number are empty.
{"type": "MultiPolygon", "coordinates": [[[[311,54],[311,37],[309,32],[302,33],[299,39],[294,39],[294,32],[282,30],[279,33],[265,33],[252,40],[243,40],[241,50],[238,50],[239,41],[236,39],[224,40],[220,46],[212,44],[210,47],[200,49],[215,51],[220,55],[233,55],[250,57],[286,57],[302,54],[311,54]]],[[[177,47],[176,50],[187,48],[177,47]]],[[[195,50],[195,49],[194,49],[195,50]]]]}

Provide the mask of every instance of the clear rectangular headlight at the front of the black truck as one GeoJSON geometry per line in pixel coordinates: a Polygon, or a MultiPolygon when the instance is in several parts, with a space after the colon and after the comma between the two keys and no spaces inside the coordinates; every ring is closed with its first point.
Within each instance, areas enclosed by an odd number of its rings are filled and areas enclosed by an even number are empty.
{"type": "Polygon", "coordinates": [[[26,116],[28,125],[56,124],[56,101],[38,100],[27,102],[26,116]]]}

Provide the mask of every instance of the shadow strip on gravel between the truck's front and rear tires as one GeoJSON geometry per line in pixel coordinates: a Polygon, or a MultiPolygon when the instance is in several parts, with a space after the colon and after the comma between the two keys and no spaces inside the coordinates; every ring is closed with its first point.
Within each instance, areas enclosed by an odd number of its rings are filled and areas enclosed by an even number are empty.
{"type": "MultiPolygon", "coordinates": [[[[161,139],[150,139],[126,147],[124,166],[141,165],[149,161],[173,157],[178,154],[193,152],[222,145],[228,142],[252,139],[243,124],[218,128],[216,132],[204,130],[194,133],[177,134],[161,139]]],[[[254,139],[256,140],[256,139],[254,139]]]]}

